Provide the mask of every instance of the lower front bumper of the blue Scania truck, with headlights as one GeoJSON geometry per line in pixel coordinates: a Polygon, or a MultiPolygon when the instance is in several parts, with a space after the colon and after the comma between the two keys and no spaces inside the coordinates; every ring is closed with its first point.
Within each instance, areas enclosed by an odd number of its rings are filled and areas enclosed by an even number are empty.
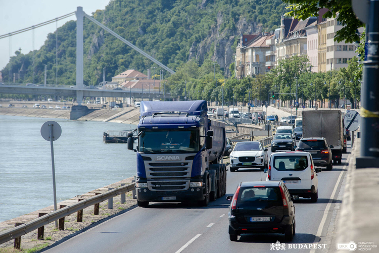
{"type": "Polygon", "coordinates": [[[138,201],[182,202],[204,200],[204,186],[189,187],[184,191],[151,191],[148,188],[136,188],[138,201]]]}

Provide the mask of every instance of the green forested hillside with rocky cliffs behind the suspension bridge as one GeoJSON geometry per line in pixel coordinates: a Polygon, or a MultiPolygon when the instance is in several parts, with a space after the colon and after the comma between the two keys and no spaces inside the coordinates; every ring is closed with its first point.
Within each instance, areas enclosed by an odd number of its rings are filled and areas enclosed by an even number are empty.
{"type": "MultiPolygon", "coordinates": [[[[173,70],[189,59],[199,66],[212,60],[228,74],[240,34],[269,32],[278,27],[284,12],[285,4],[280,0],[112,0],[105,10],[92,16],[173,70]]],[[[43,83],[46,64],[47,82],[55,84],[55,38],[55,33],[49,34],[34,52],[34,83],[43,83]]],[[[110,81],[127,69],[146,74],[148,68],[156,66],[88,19],[84,19],[84,54],[87,85],[102,81],[104,67],[110,81]]],[[[58,57],[58,83],[74,85],[76,21],[58,28],[58,57]]],[[[12,73],[20,73],[16,82],[31,83],[32,62],[32,52],[16,52],[2,70],[3,80],[8,81],[11,68],[12,73]]]]}

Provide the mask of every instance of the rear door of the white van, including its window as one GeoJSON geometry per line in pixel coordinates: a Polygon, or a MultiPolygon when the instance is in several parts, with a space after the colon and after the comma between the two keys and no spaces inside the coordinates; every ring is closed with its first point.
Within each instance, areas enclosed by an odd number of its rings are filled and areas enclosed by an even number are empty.
{"type": "Polygon", "coordinates": [[[283,181],[289,189],[310,189],[311,161],[305,154],[286,153],[271,161],[271,180],[283,181]]]}

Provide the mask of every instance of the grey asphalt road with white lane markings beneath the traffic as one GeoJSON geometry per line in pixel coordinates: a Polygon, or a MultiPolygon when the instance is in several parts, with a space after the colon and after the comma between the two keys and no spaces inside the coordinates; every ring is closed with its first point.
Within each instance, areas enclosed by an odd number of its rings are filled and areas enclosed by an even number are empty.
{"type": "MultiPolygon", "coordinates": [[[[270,154],[270,151],[268,152],[270,154]]],[[[345,162],[350,153],[343,155],[342,165],[318,176],[318,200],[296,200],[296,235],[291,243],[325,243],[334,201],[325,212],[339,178],[343,178],[345,162]],[[342,173],[341,177],[340,174],[342,173]],[[320,226],[321,224],[321,226],[320,226]],[[323,225],[323,226],[322,226],[323,225]],[[320,236],[317,236],[319,233],[320,236]]],[[[269,155],[268,154],[268,155],[269,155]]],[[[228,171],[227,195],[232,195],[240,181],[265,180],[259,169],[228,171]]],[[[341,181],[339,181],[341,184],[341,181]]],[[[333,194],[335,192],[335,194],[333,194]]],[[[50,246],[46,252],[272,252],[271,243],[285,241],[281,234],[247,234],[232,242],[228,236],[229,201],[221,197],[208,207],[184,204],[155,204],[148,208],[137,207],[109,219],[96,227],[50,246]]],[[[289,249],[289,252],[310,252],[310,249],[289,249]]],[[[317,249],[315,252],[321,252],[317,249]]]]}

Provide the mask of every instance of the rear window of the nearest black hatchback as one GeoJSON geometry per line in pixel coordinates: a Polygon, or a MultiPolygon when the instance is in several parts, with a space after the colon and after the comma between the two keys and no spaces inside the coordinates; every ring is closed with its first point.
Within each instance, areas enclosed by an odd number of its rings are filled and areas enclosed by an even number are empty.
{"type": "Polygon", "coordinates": [[[246,187],[241,188],[237,198],[238,203],[259,203],[259,201],[268,201],[272,203],[281,202],[279,187],[246,187]]]}

